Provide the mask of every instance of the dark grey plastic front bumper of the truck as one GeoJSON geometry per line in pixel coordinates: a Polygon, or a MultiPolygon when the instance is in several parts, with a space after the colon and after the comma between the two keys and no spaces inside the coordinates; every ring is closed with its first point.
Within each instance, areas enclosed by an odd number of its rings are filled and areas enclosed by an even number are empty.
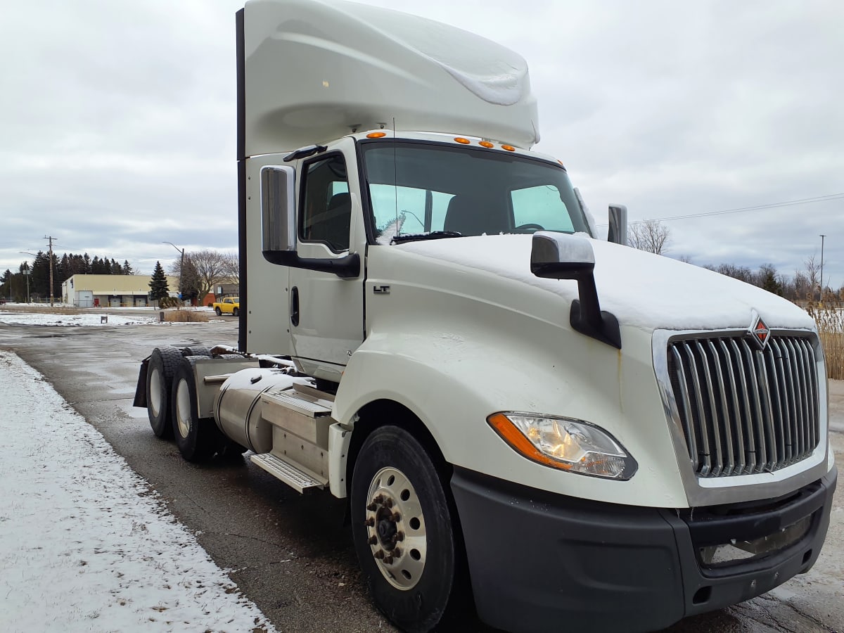
{"type": "Polygon", "coordinates": [[[564,497],[457,468],[452,491],[481,619],[511,631],[662,629],[755,598],[820,554],[836,468],[778,500],[695,511],[564,497]],[[766,555],[706,566],[701,551],[803,522],[766,555]]]}

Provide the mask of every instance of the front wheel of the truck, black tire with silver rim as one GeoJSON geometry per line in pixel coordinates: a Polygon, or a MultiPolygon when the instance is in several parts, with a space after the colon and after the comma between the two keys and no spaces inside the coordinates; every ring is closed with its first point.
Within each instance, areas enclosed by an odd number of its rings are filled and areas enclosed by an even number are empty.
{"type": "Polygon", "coordinates": [[[396,426],[373,431],[354,464],[354,549],[372,599],[396,625],[432,630],[457,570],[446,485],[428,452],[396,426]]]}

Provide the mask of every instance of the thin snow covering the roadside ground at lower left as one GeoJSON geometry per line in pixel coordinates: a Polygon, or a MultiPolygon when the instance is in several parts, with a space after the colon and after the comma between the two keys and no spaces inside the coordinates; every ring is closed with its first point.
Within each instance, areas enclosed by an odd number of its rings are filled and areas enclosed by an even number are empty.
{"type": "Polygon", "coordinates": [[[43,376],[0,351],[0,630],[273,631],[43,376]]]}

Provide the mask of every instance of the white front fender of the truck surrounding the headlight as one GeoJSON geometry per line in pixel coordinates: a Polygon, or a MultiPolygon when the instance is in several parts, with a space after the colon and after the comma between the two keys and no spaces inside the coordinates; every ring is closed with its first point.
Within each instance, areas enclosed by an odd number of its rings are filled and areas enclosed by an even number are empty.
{"type": "MultiPolygon", "coordinates": [[[[649,350],[647,336],[640,338],[642,349],[649,350]]],[[[685,506],[652,369],[642,371],[630,358],[625,366],[618,350],[579,335],[565,341],[565,348],[561,356],[558,344],[530,346],[469,333],[376,333],[349,359],[333,417],[352,428],[354,415],[367,403],[392,400],[419,418],[456,466],[564,495],[685,506]],[[625,409],[631,394],[640,404],[625,409]],[[507,410],[601,425],[646,468],[622,482],[533,463],[486,423],[490,414],[507,410]]]]}

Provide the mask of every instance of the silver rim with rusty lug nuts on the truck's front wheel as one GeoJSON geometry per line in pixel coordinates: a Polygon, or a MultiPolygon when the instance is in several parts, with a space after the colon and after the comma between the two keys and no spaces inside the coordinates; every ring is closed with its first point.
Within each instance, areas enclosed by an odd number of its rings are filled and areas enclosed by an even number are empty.
{"type": "Polygon", "coordinates": [[[366,495],[366,538],[378,570],[407,591],[425,570],[428,538],[419,497],[398,468],[381,468],[366,495]]]}

